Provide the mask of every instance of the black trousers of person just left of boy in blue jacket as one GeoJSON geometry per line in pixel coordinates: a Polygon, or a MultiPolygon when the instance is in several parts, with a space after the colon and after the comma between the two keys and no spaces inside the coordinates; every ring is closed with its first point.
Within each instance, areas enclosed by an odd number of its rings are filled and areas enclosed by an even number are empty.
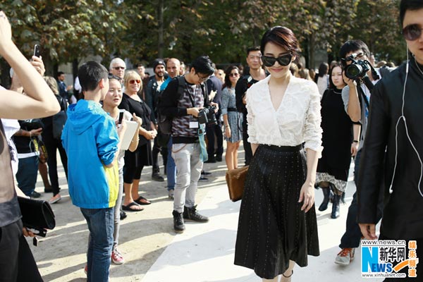
{"type": "Polygon", "coordinates": [[[63,169],[68,179],[68,156],[66,155],[65,149],[61,144],[61,140],[54,139],[49,135],[43,135],[42,140],[47,147],[47,164],[49,165],[49,178],[51,182],[51,188],[53,188],[53,195],[59,194],[59,176],[57,175],[57,150],[59,150],[60,159],[63,164],[63,169]]]}

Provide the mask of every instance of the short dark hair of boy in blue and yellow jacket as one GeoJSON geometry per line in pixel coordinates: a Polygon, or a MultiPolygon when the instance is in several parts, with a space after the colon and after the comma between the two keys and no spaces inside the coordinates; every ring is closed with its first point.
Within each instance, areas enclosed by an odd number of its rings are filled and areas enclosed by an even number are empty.
{"type": "Polygon", "coordinates": [[[95,90],[100,80],[107,79],[107,75],[109,75],[109,71],[104,66],[95,61],[87,61],[78,69],[82,91],[95,90]]]}

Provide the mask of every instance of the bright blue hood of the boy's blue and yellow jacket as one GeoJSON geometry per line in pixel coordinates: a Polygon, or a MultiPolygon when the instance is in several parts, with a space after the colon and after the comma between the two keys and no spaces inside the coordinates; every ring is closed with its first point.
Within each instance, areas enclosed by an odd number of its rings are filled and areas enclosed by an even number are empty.
{"type": "Polygon", "coordinates": [[[97,102],[80,99],[77,104],[68,106],[68,123],[71,123],[71,130],[78,135],[102,118],[104,110],[97,102]]]}

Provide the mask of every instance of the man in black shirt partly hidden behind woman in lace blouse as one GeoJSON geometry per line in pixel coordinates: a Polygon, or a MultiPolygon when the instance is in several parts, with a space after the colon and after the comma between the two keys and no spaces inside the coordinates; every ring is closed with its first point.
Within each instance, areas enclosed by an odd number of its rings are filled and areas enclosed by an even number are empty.
{"type": "Polygon", "coordinates": [[[252,159],[252,150],[250,142],[248,142],[248,133],[247,133],[247,108],[245,107],[245,93],[251,85],[259,82],[266,78],[267,73],[262,68],[262,60],[260,59],[262,52],[260,47],[250,47],[247,49],[247,64],[249,68],[249,73],[246,73],[241,77],[235,85],[235,99],[236,99],[236,108],[240,113],[243,113],[243,147],[245,151],[245,165],[249,165],[252,159]]]}

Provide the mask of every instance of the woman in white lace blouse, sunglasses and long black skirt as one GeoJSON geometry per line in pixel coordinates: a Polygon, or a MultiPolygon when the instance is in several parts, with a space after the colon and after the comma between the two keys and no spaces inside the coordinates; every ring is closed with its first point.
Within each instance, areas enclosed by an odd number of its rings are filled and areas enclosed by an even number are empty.
{"type": "Polygon", "coordinates": [[[247,91],[254,157],[240,208],[235,264],[254,269],[263,281],[278,281],[280,274],[281,281],[290,281],[295,263],[307,266],[307,255],[319,255],[314,181],[321,152],[320,94],[314,82],[289,71],[300,50],[287,27],[268,30],[261,51],[270,75],[247,91]]]}

